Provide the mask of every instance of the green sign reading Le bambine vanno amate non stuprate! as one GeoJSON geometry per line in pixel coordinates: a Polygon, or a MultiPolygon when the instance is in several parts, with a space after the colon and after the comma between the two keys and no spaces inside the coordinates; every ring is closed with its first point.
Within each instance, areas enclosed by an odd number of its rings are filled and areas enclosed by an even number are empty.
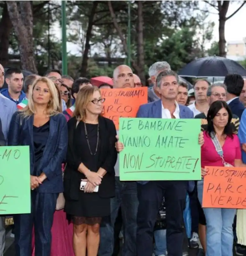
{"type": "Polygon", "coordinates": [[[200,119],[120,118],[120,180],[201,180],[200,119]]]}

